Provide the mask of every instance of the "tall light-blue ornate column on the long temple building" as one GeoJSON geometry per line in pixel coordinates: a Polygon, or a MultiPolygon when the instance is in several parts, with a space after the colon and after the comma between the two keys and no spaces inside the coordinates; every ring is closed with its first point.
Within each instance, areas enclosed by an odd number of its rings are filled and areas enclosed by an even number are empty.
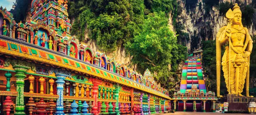
{"type": "Polygon", "coordinates": [[[59,98],[56,101],[56,115],[64,115],[64,106],[63,106],[63,89],[64,89],[64,79],[66,76],[56,73],[56,77],[58,78],[56,80],[57,83],[57,95],[59,95],[59,98]]]}

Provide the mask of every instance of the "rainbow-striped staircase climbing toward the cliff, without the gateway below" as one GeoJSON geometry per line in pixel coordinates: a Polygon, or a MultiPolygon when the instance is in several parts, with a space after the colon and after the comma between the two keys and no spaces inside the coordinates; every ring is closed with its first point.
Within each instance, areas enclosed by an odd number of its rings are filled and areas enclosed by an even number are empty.
{"type": "Polygon", "coordinates": [[[206,93],[205,80],[202,74],[201,55],[189,57],[185,61],[182,68],[182,79],[180,84],[180,92],[191,90],[192,85],[196,85],[197,89],[206,93]]]}

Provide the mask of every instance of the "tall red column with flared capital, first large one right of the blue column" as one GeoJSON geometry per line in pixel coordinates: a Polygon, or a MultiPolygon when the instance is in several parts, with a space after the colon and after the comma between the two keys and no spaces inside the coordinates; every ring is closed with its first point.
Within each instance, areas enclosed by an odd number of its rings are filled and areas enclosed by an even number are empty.
{"type": "Polygon", "coordinates": [[[97,94],[98,94],[98,86],[102,84],[102,81],[93,77],[89,78],[89,81],[92,82],[92,97],[94,98],[92,113],[98,115],[98,105],[97,105],[97,94]]]}

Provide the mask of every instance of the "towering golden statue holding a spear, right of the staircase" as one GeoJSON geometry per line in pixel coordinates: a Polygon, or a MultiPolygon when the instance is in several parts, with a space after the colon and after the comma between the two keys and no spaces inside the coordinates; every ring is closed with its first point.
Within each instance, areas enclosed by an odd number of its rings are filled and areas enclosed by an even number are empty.
{"type": "Polygon", "coordinates": [[[242,12],[236,3],[233,10],[229,9],[226,13],[228,25],[220,28],[216,36],[217,97],[222,97],[220,95],[220,56],[221,45],[226,43],[228,46],[225,46],[221,65],[228,92],[243,96],[241,93],[246,78],[246,96],[249,97],[249,67],[253,41],[248,29],[243,27],[241,17],[242,12]]]}

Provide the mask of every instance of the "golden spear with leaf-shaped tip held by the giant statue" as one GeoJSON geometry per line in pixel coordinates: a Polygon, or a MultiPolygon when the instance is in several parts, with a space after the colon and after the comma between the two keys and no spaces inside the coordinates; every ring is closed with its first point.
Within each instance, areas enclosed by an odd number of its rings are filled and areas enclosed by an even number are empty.
{"type": "MultiPolygon", "coordinates": [[[[229,10],[228,10],[228,12],[226,13],[226,18],[228,18],[228,26],[229,26],[229,30],[230,30],[230,28],[231,28],[231,24],[232,24],[232,19],[234,18],[234,13],[233,13],[233,11],[229,8],[229,10]]],[[[229,49],[229,76],[228,76],[228,88],[229,88],[229,92],[228,92],[228,94],[230,94],[230,43],[231,43],[231,40],[230,40],[230,38],[231,38],[231,32],[229,32],[229,39],[228,39],[228,45],[229,45],[229,47],[228,47],[228,49],[229,49]]]]}

